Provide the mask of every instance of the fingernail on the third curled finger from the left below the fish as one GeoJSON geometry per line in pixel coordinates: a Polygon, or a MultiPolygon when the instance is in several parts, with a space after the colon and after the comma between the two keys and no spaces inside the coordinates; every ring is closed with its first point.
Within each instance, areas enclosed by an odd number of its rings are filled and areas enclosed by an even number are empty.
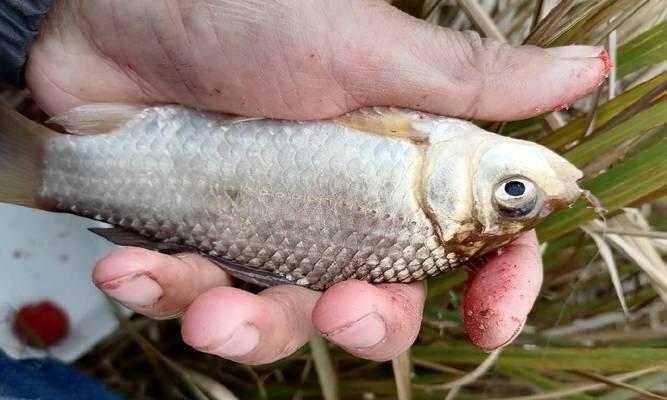
{"type": "Polygon", "coordinates": [[[380,343],[386,334],[387,324],[378,313],[372,312],[325,336],[341,346],[363,349],[380,343]]]}

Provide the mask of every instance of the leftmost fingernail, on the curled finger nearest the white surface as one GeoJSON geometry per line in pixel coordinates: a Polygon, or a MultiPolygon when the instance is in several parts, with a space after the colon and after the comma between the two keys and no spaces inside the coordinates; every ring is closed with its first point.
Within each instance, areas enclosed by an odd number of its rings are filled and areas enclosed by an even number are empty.
{"type": "Polygon", "coordinates": [[[124,276],[98,285],[107,295],[129,307],[148,307],[160,300],[162,287],[146,274],[124,276]]]}

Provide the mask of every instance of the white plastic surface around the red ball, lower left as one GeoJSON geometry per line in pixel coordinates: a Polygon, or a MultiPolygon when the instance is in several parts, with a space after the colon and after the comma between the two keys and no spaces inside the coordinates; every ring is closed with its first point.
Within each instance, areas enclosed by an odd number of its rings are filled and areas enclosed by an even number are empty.
{"type": "MultiPolygon", "coordinates": [[[[12,323],[22,305],[43,300],[69,317],[68,335],[49,354],[71,362],[118,327],[109,300],[91,280],[95,261],[117,247],[89,232],[105,226],[68,214],[0,204],[0,349],[15,358],[44,356],[24,345],[12,323]]],[[[122,309],[129,315],[127,309],[122,309]]]]}

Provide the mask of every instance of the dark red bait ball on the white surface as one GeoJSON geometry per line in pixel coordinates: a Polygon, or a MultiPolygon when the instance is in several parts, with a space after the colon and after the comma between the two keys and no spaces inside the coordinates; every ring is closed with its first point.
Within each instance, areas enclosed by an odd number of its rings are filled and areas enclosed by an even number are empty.
{"type": "Polygon", "coordinates": [[[69,330],[67,314],[49,301],[27,304],[14,319],[14,333],[33,347],[49,347],[61,341],[69,330]]]}

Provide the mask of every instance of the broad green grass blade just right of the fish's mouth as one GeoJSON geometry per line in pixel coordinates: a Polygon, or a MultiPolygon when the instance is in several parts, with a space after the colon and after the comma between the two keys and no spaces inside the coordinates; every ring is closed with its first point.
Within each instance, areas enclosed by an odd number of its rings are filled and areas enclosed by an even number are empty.
{"type": "MultiPolygon", "coordinates": [[[[582,183],[610,211],[627,206],[667,185],[667,141],[645,149],[607,172],[582,183]]],[[[542,241],[548,241],[576,229],[596,215],[588,204],[578,201],[538,226],[542,241]]]]}

